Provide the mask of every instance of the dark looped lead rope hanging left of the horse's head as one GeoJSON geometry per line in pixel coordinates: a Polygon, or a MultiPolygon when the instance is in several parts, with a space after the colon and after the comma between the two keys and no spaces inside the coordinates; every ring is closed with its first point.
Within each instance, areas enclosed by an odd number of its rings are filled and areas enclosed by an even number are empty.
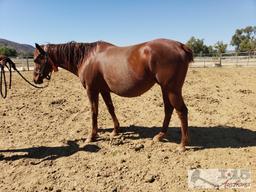
{"type": "Polygon", "coordinates": [[[0,94],[1,96],[5,99],[7,97],[7,82],[6,82],[6,76],[5,76],[5,71],[4,71],[4,67],[6,66],[6,68],[9,70],[9,73],[10,73],[10,76],[9,76],[9,89],[11,89],[11,86],[12,86],[12,68],[14,71],[16,71],[20,76],[21,78],[26,81],[29,85],[33,86],[34,88],[37,88],[37,89],[43,89],[43,88],[46,88],[48,87],[48,85],[46,86],[43,86],[43,87],[39,87],[39,86],[36,86],[34,85],[33,83],[31,83],[30,81],[28,81],[21,73],[20,71],[16,68],[15,66],[15,63],[13,63],[10,59],[8,59],[6,61],[6,63],[4,64],[0,64],[1,66],[1,73],[0,73],[0,94]],[[9,63],[9,67],[6,65],[6,63],[9,63]],[[3,90],[3,83],[4,83],[4,90],[3,90]]]}

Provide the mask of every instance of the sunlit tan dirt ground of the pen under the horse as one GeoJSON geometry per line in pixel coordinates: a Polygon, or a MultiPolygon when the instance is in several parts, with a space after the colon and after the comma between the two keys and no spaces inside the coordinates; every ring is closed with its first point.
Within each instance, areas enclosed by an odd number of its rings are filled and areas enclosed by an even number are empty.
{"type": "Polygon", "coordinates": [[[255,77],[256,68],[190,68],[191,147],[179,153],[176,113],[166,140],[152,143],[164,117],[157,85],[137,98],[112,95],[123,132],[111,143],[100,98],[100,138],[86,144],[90,106],[77,77],[60,70],[38,90],[15,74],[0,98],[0,191],[192,191],[187,171],[195,168],[249,169],[251,189],[241,191],[255,191],[255,77]]]}

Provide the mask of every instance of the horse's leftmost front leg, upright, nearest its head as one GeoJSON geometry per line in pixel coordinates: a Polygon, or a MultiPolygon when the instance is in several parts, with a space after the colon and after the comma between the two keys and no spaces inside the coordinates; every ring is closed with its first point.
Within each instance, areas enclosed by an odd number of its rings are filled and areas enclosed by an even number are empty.
{"type": "Polygon", "coordinates": [[[99,92],[91,90],[89,87],[87,89],[87,95],[91,104],[91,113],[92,113],[92,131],[89,134],[86,142],[94,141],[98,136],[98,104],[99,104],[99,92]]]}

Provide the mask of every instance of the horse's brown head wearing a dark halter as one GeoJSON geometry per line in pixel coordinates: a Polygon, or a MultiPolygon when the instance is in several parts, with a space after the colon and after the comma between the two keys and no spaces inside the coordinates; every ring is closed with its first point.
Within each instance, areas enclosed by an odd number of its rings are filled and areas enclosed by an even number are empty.
{"type": "Polygon", "coordinates": [[[34,51],[34,82],[36,84],[43,83],[44,79],[50,80],[52,71],[56,71],[57,68],[54,66],[48,53],[37,43],[34,51]]]}

